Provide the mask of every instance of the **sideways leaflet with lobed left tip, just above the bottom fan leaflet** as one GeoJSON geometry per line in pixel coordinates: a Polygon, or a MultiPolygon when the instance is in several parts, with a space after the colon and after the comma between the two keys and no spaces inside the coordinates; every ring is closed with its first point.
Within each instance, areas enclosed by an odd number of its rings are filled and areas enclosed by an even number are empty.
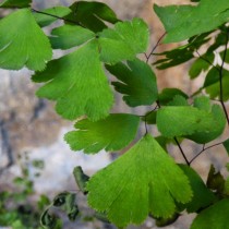
{"type": "Polygon", "coordinates": [[[98,153],[124,148],[134,140],[140,117],[128,113],[113,113],[106,119],[92,122],[87,119],[76,122],[76,131],[65,134],[64,140],[73,150],[98,153]]]}

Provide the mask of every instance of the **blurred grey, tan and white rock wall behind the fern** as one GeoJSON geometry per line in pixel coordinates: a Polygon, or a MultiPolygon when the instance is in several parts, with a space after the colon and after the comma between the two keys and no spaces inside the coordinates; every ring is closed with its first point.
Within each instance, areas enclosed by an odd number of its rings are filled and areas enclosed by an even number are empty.
{"type": "MultiPolygon", "coordinates": [[[[52,0],[41,1],[35,0],[34,8],[43,9],[45,7],[53,7],[57,3],[69,5],[73,1],[70,0],[52,0]]],[[[153,3],[171,4],[171,3],[190,3],[184,0],[107,0],[109,4],[122,20],[129,20],[133,16],[143,17],[150,27],[152,47],[157,43],[164,33],[164,28],[153,13],[153,3]]],[[[158,51],[162,51],[168,47],[159,46],[158,51]]],[[[155,60],[154,60],[155,61],[155,60]]],[[[153,62],[153,60],[152,60],[153,62]]],[[[201,80],[190,82],[186,64],[172,68],[169,71],[157,72],[159,88],[179,87],[191,94],[195,91],[201,80]]],[[[72,170],[75,166],[81,165],[87,173],[93,173],[99,168],[105,167],[111,161],[111,156],[101,153],[95,156],[86,156],[82,153],[72,153],[69,146],[63,142],[63,134],[71,130],[73,123],[62,120],[58,117],[53,109],[53,104],[45,99],[38,99],[35,96],[36,88],[31,82],[31,73],[27,70],[22,71],[0,71],[0,191],[11,185],[13,177],[20,174],[19,155],[28,154],[31,159],[43,159],[45,169],[39,178],[35,179],[35,188],[37,194],[48,194],[53,197],[55,194],[63,190],[75,190],[72,178],[72,170]]],[[[121,99],[113,108],[116,111],[124,111],[126,106],[121,99]]],[[[145,112],[143,110],[142,112],[145,112]]],[[[189,158],[192,154],[198,152],[197,146],[185,143],[183,145],[189,158]]],[[[171,154],[178,161],[183,161],[177,147],[170,147],[171,154]]],[[[221,152],[221,147],[215,147],[208,150],[207,155],[203,154],[202,164],[194,162],[193,166],[206,174],[210,162],[220,168],[221,161],[226,156],[221,152]],[[221,159],[216,159],[214,153],[221,154],[221,159]]],[[[218,156],[217,156],[218,157],[218,156]]],[[[141,204],[141,203],[140,203],[141,204]]],[[[192,215],[180,217],[179,220],[166,227],[166,229],[186,229],[192,219],[192,215]]],[[[82,222],[77,225],[67,225],[69,228],[114,228],[109,225],[96,222],[82,222]]],[[[156,228],[154,221],[148,219],[141,227],[130,228],[156,228]]]]}

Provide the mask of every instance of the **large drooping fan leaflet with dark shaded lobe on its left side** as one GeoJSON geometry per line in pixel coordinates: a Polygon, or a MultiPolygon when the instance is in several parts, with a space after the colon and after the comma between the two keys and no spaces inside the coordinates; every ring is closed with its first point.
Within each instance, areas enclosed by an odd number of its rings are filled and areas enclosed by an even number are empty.
{"type": "Polygon", "coordinates": [[[65,119],[74,120],[86,114],[96,121],[108,116],[113,103],[95,40],[50,61],[33,80],[49,81],[37,95],[56,100],[57,112],[65,119]]]}

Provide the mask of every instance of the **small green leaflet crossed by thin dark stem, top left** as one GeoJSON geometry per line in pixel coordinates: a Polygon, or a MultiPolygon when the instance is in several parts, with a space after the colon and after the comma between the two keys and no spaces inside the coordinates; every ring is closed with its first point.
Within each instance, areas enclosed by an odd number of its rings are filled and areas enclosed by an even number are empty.
{"type": "Polygon", "coordinates": [[[63,17],[71,12],[72,11],[67,7],[55,7],[45,9],[40,12],[35,11],[34,17],[39,26],[45,27],[59,20],[58,17],[63,17]]]}

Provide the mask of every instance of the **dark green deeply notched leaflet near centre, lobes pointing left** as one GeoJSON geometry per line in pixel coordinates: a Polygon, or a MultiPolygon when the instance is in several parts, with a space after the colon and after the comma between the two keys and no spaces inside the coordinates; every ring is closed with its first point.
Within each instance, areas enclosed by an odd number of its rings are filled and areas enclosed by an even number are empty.
{"type": "Polygon", "coordinates": [[[116,65],[106,65],[106,69],[121,82],[112,82],[116,91],[124,94],[123,100],[130,107],[152,105],[158,96],[155,73],[150,67],[135,59],[116,65]]]}

